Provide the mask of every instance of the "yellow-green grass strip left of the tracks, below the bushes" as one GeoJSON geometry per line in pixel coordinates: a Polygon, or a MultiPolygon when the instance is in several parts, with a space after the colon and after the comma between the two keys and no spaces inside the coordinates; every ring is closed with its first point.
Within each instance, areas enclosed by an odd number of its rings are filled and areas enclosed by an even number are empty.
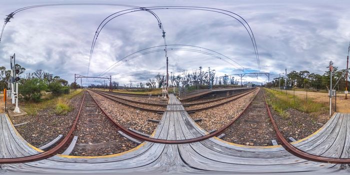
{"type": "MultiPolygon", "coordinates": [[[[22,109],[28,113],[28,115],[36,115],[39,110],[46,108],[53,108],[53,112],[65,112],[67,111],[67,106],[71,110],[68,101],[73,98],[75,95],[79,94],[82,89],[71,89],[69,94],[63,94],[60,97],[45,97],[40,102],[24,102],[21,103],[22,109]],[[67,106],[66,106],[67,105],[67,106]]],[[[57,113],[57,114],[58,114],[57,113]]],[[[62,114],[63,114],[62,113],[62,114]]]]}

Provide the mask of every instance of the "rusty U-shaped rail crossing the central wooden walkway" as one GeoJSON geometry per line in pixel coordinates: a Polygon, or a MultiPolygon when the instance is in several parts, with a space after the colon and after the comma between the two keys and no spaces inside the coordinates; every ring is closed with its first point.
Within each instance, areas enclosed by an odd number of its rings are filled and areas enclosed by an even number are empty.
{"type": "MultiPolygon", "coordinates": [[[[89,90],[88,90],[89,92],[89,90]]],[[[256,93],[257,94],[257,93],[256,93]]],[[[256,96],[255,94],[255,96],[256,96]]],[[[91,95],[92,96],[92,95],[91,95]]],[[[254,96],[254,98],[255,98],[254,96]]],[[[242,97],[242,96],[240,96],[242,97]]],[[[244,107],[244,109],[238,114],[238,117],[247,109],[247,107],[250,105],[251,101],[254,99],[252,98],[250,101],[249,101],[249,104],[247,106],[244,107]]],[[[92,99],[94,99],[94,97],[92,96],[92,99]]],[[[203,136],[199,136],[199,137],[196,137],[196,138],[190,138],[190,139],[179,139],[179,140],[166,140],[166,139],[158,139],[158,138],[151,138],[151,137],[145,137],[143,135],[140,135],[138,133],[135,133],[135,132],[132,132],[130,130],[128,130],[127,128],[125,128],[124,126],[122,126],[121,124],[117,123],[116,121],[114,121],[114,119],[108,114],[106,113],[103,108],[100,106],[100,104],[95,100],[96,104],[98,105],[98,107],[101,109],[101,111],[110,119],[110,121],[113,122],[113,124],[118,127],[122,132],[124,132],[125,134],[135,138],[135,139],[138,139],[140,141],[148,141],[148,142],[153,142],[153,143],[162,143],[162,144],[184,144],[184,143],[192,143],[192,142],[198,142],[198,141],[203,141],[203,140],[206,140],[208,138],[211,138],[213,136],[216,136],[216,135],[219,135],[221,134],[221,132],[223,132],[228,126],[230,126],[238,117],[235,117],[234,119],[232,119],[230,122],[228,122],[227,124],[225,124],[223,127],[221,127],[220,129],[212,132],[212,133],[209,133],[209,134],[206,134],[206,135],[203,135],[203,136]]],[[[165,111],[167,112],[167,111],[165,111]]]]}

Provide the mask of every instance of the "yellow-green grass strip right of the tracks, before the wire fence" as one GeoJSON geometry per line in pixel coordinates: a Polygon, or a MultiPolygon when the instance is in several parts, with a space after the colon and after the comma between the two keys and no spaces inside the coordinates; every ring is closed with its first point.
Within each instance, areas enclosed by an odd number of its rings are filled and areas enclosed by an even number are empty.
{"type": "Polygon", "coordinates": [[[266,91],[266,100],[273,110],[278,112],[283,119],[289,118],[288,108],[294,108],[302,112],[309,113],[311,116],[317,116],[326,113],[329,108],[323,103],[314,102],[312,99],[301,99],[292,94],[285,94],[284,91],[264,88],[266,91]]]}

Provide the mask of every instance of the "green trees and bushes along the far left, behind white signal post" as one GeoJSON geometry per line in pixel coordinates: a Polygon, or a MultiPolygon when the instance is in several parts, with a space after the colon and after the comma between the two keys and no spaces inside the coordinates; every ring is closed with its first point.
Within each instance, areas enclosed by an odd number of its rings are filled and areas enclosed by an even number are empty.
{"type": "MultiPolygon", "coordinates": [[[[24,100],[39,101],[42,91],[50,92],[52,96],[69,93],[70,87],[68,81],[54,76],[42,69],[24,74],[25,68],[19,64],[15,64],[15,68],[19,70],[18,93],[19,97],[24,100]]],[[[10,82],[11,70],[6,70],[4,66],[0,67],[0,85],[7,87],[10,82]]]]}

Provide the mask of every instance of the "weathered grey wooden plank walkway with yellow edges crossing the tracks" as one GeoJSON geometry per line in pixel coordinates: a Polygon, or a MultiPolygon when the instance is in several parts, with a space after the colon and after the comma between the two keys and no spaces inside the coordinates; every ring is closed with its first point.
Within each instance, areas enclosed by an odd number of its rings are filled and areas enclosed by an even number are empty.
{"type": "MultiPolygon", "coordinates": [[[[169,95],[167,109],[151,135],[160,139],[188,139],[207,134],[169,95]]],[[[349,158],[350,114],[334,113],[315,133],[293,142],[303,151],[327,157],[349,158]]],[[[42,150],[30,145],[15,130],[8,116],[0,115],[0,157],[21,157],[42,150]]],[[[126,152],[105,156],[57,154],[47,159],[0,164],[0,173],[336,173],[348,174],[347,164],[308,161],[282,146],[245,146],[212,137],[187,144],[142,142],[126,152]]]]}

